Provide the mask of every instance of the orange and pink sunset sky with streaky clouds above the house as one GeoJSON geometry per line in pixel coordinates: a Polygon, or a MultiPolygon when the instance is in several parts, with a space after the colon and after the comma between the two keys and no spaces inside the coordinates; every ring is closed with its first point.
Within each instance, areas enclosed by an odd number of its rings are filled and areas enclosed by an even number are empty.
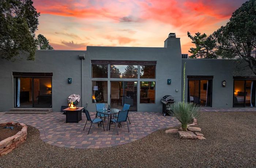
{"type": "Polygon", "coordinates": [[[163,47],[170,32],[182,53],[193,46],[187,31],[207,35],[225,25],[246,0],[33,0],[38,31],[54,49],[87,45],[163,47]]]}

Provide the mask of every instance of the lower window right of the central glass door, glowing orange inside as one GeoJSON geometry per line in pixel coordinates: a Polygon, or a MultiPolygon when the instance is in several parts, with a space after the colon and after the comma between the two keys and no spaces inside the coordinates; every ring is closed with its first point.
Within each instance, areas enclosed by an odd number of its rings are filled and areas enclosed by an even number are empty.
{"type": "Polygon", "coordinates": [[[155,103],[155,82],[140,82],[140,103],[155,103]]]}

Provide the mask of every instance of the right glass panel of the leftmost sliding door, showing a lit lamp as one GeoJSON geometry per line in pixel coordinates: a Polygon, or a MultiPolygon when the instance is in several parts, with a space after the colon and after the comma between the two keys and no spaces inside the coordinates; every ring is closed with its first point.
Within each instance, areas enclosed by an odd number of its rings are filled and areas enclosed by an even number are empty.
{"type": "Polygon", "coordinates": [[[52,106],[52,78],[34,78],[34,107],[52,106]]]}

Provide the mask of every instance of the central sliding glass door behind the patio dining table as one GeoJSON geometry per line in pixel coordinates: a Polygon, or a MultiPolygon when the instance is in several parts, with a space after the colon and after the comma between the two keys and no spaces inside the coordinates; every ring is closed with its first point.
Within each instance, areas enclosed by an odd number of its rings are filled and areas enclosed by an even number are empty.
{"type": "Polygon", "coordinates": [[[130,111],[137,111],[137,82],[111,81],[110,82],[111,108],[123,109],[129,104],[130,111]]]}

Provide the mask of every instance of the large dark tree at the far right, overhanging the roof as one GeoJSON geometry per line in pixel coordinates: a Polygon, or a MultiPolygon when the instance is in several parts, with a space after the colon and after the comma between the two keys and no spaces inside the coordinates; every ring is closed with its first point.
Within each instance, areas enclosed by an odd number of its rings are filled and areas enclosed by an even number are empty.
{"type": "Polygon", "coordinates": [[[242,4],[226,26],[213,33],[217,39],[217,55],[222,58],[246,61],[256,74],[256,0],[242,4]]]}

